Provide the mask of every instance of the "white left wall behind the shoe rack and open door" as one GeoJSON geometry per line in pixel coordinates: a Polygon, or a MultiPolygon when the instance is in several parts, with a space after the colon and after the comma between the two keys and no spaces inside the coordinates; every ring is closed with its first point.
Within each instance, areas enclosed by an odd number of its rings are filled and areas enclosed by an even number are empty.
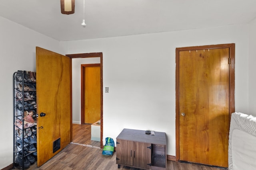
{"type": "Polygon", "coordinates": [[[59,42],[0,17],[0,169],[12,164],[13,86],[17,70],[36,71],[36,46],[61,52],[59,42]]]}

